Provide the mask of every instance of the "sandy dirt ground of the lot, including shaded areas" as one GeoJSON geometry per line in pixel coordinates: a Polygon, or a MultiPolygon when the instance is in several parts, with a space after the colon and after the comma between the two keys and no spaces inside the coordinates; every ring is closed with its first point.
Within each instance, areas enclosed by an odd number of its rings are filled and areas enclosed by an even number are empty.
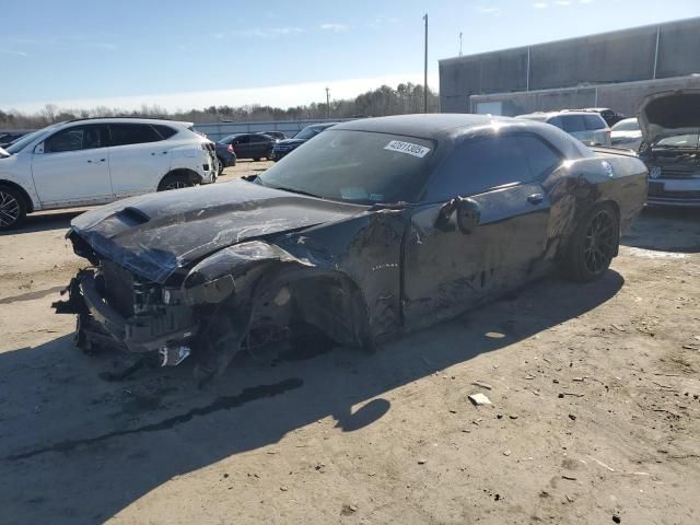
{"type": "Polygon", "coordinates": [[[700,212],[645,210],[597,282],[201,392],[73,348],[77,213],[0,236],[0,523],[700,523],[700,212]]]}

